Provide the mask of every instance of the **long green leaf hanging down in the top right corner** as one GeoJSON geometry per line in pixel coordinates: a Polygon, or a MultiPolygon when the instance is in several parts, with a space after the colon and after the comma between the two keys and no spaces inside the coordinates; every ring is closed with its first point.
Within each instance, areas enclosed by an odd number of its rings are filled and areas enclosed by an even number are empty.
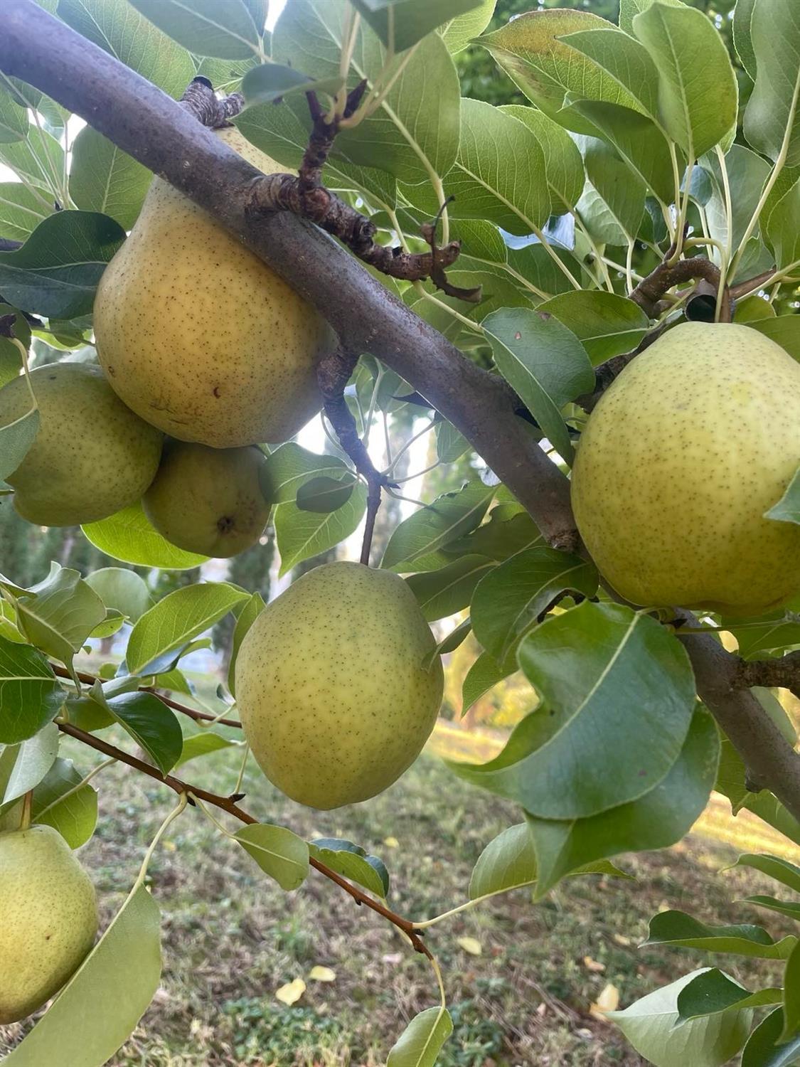
{"type": "MultiPolygon", "coordinates": [[[[747,16],[746,16],[747,17],[747,16]]],[[[750,44],[755,84],[745,110],[745,137],[775,161],[787,139],[786,165],[800,164],[800,23],[793,0],[758,0],[750,44]]]]}

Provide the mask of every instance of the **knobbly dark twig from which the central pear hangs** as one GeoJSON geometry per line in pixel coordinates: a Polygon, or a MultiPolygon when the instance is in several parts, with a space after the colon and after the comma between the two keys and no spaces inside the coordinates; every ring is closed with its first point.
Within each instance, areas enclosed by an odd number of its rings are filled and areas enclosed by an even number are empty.
{"type": "Polygon", "coordinates": [[[375,515],[381,506],[381,490],[384,487],[395,488],[396,482],[381,474],[369,458],[364,442],[358,436],[353,413],[345,399],[345,386],[350,380],[358,356],[352,352],[339,349],[320,360],[317,367],[317,381],[324,401],[325,414],[336,431],[339,444],[355,463],[355,469],[367,481],[367,522],[364,527],[361,561],[369,567],[369,552],[372,546],[372,534],[375,527],[375,515]]]}

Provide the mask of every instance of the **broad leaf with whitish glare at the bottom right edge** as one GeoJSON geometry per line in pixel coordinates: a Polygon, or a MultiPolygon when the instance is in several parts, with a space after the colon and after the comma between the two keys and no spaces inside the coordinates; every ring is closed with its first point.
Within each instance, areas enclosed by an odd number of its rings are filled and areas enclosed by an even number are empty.
{"type": "Polygon", "coordinates": [[[606,1012],[636,1051],[656,1067],[721,1067],[747,1039],[752,1012],[731,1012],[681,1022],[677,999],[705,969],[656,989],[623,1012],[606,1012]],[[679,1025],[678,1025],[679,1023],[679,1025]]]}

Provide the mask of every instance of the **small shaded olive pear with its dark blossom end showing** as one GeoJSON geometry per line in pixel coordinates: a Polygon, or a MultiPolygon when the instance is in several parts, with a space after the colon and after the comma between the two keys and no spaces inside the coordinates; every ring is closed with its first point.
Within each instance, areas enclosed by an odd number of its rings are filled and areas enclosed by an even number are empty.
{"type": "Polygon", "coordinates": [[[236,556],[258,541],[270,516],[258,481],[266,461],[254,445],[209,448],[169,442],[142,498],[145,514],[178,548],[236,556]]]}

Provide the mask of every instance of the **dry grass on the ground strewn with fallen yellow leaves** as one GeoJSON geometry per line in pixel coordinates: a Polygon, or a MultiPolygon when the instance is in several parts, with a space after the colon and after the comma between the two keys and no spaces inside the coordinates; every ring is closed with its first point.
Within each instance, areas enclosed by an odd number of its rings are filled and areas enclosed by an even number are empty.
{"type": "MultiPolygon", "coordinates": [[[[74,752],[85,765],[84,752],[74,752]]],[[[239,763],[239,752],[226,750],[181,773],[226,793],[239,763]]],[[[108,921],[173,796],[123,766],[95,784],[100,821],[81,858],[108,921]]],[[[483,846],[519,821],[511,805],[465,785],[431,752],[375,800],[334,812],[292,803],[253,766],[243,787],[245,806],[265,822],[304,837],[347,837],[381,856],[391,872],[391,906],[418,919],[465,899],[483,846]]],[[[428,941],[455,1024],[437,1067],[643,1063],[589,1007],[609,982],[625,1005],[705,962],[698,953],[638,949],[654,912],[683,908],[711,923],[787,931],[780,917],[732,903],[773,892],[755,872],[718,874],[735,856],[693,833],[675,848],[625,857],[636,882],[569,879],[535,906],[519,890],[436,926],[428,941]],[[460,945],[464,937],[479,942],[480,955],[460,945]]],[[[150,885],[163,914],[162,984],[115,1067],[380,1067],[405,1022],[436,1003],[430,967],[390,926],[316,873],[298,892],[281,892],[196,810],[170,828],[150,885]],[[335,981],[311,981],[317,965],[335,981]],[[307,990],[286,1006],[275,991],[295,977],[307,990]]],[[[778,974],[772,965],[721,960],[746,985],[778,974]]],[[[0,1028],[0,1052],[25,1030],[0,1028]]]]}

